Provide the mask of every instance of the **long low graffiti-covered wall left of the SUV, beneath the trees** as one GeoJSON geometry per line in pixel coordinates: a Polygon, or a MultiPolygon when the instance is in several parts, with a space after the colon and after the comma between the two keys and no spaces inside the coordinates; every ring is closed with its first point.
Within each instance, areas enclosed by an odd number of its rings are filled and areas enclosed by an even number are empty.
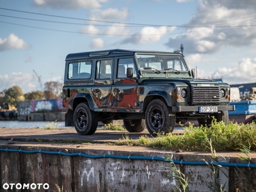
{"type": "Polygon", "coordinates": [[[18,114],[28,115],[33,112],[65,111],[62,106],[62,99],[29,100],[18,103],[18,114]]]}

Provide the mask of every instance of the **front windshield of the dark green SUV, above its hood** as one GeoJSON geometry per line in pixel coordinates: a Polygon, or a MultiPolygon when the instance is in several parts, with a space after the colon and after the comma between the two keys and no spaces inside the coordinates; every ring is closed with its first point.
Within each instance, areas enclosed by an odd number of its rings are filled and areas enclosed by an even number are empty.
{"type": "Polygon", "coordinates": [[[143,70],[174,70],[188,72],[182,56],[168,54],[136,54],[138,65],[143,70]]]}

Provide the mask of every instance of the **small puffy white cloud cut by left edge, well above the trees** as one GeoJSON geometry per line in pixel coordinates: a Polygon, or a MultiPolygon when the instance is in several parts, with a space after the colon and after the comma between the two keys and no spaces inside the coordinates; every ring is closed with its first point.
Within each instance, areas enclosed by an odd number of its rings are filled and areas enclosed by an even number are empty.
{"type": "Polygon", "coordinates": [[[10,34],[8,38],[0,38],[0,51],[12,50],[12,49],[26,49],[29,44],[19,38],[14,33],[10,34]]]}

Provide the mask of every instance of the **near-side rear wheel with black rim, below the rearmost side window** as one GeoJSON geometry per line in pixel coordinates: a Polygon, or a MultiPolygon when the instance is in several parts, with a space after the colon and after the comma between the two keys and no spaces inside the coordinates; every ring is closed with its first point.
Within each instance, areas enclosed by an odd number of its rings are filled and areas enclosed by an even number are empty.
{"type": "Polygon", "coordinates": [[[88,104],[78,104],[74,111],[74,126],[78,134],[93,134],[98,126],[97,114],[90,110],[88,104]]]}

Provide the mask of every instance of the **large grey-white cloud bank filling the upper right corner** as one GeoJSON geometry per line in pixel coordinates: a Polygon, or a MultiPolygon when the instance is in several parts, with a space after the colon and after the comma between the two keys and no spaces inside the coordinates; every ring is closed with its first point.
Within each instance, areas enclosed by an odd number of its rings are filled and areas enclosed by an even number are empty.
{"type": "Polygon", "coordinates": [[[225,47],[246,47],[256,44],[253,27],[255,1],[200,0],[199,3],[198,12],[187,24],[198,27],[187,29],[182,35],[169,38],[165,44],[168,48],[173,49],[183,44],[186,47],[186,54],[209,54],[225,47]]]}

